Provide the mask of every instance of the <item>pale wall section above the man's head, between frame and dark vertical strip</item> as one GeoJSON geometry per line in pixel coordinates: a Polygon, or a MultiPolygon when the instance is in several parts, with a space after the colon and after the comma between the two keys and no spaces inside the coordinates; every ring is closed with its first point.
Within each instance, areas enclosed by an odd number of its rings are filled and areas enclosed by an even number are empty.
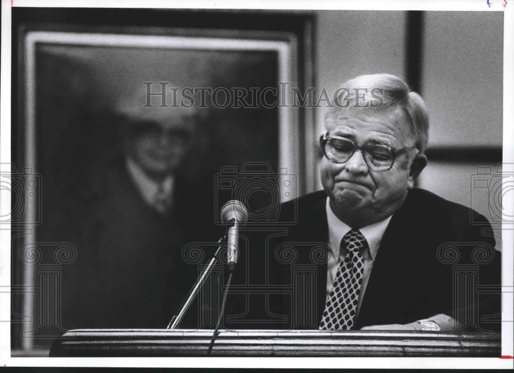
{"type": "MultiPolygon", "coordinates": [[[[319,11],[318,89],[333,92],[342,82],[361,74],[403,76],[405,20],[401,11],[319,11]]],[[[317,112],[318,133],[323,132],[324,112],[317,112]]]]}

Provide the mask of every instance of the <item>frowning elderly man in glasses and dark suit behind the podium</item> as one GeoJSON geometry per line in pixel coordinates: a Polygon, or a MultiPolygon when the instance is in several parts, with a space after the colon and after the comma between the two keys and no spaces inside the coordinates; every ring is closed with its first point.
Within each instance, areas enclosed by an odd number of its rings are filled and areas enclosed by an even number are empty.
{"type": "Polygon", "coordinates": [[[268,284],[283,287],[268,295],[263,326],[498,329],[482,319],[500,312],[498,297],[473,288],[500,284],[494,238],[481,233],[487,219],[414,187],[427,165],[421,97],[389,74],[357,77],[337,93],[320,139],[324,190],[283,203],[276,222],[263,222],[266,239],[253,241],[265,244],[268,284]],[[295,224],[281,225],[291,212],[295,224]],[[474,283],[459,283],[452,255],[478,270],[474,283]]]}

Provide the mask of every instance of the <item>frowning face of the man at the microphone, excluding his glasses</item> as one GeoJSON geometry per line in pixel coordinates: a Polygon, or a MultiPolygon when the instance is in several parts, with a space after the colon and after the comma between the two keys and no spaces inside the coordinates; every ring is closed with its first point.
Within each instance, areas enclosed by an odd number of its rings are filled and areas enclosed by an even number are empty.
{"type": "MultiPolygon", "coordinates": [[[[347,110],[334,123],[329,135],[348,138],[357,146],[373,141],[399,150],[415,143],[399,108],[347,110]]],[[[353,228],[361,228],[394,213],[414,185],[416,175],[410,175],[410,169],[415,153],[413,149],[398,155],[388,171],[371,170],[360,151],[345,163],[323,157],[321,182],[336,216],[353,228]]]]}

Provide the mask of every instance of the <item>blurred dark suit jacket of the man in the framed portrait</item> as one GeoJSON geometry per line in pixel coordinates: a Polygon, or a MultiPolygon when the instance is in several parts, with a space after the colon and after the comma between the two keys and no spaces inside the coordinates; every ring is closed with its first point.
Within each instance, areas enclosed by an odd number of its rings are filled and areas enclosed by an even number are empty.
{"type": "MultiPolygon", "coordinates": [[[[61,270],[62,327],[165,328],[198,274],[182,248],[223,234],[210,213],[212,195],[208,185],[176,175],[164,218],[144,202],[121,157],[68,184],[45,232],[77,248],[61,270]]],[[[188,315],[183,326],[195,327],[196,310],[188,315]]]]}

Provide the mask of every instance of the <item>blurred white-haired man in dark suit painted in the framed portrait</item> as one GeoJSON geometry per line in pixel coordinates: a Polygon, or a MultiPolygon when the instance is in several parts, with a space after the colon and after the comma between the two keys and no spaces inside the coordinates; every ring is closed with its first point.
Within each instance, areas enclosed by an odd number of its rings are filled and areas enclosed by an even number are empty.
{"type": "Polygon", "coordinates": [[[144,85],[134,90],[114,108],[119,151],[66,185],[64,208],[56,204],[50,236],[77,247],[61,274],[66,329],[166,327],[197,275],[183,246],[219,235],[208,233],[213,190],[183,172],[197,109],[159,107],[144,85]]]}

